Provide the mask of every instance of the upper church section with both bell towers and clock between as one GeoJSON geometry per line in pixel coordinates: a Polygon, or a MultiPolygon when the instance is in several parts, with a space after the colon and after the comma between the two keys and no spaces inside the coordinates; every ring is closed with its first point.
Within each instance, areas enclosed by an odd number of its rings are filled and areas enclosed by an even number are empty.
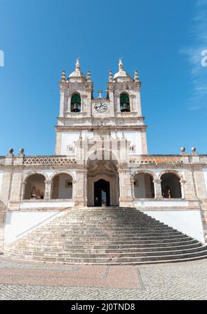
{"type": "Polygon", "coordinates": [[[129,154],[132,156],[148,154],[146,125],[141,114],[138,72],[130,77],[119,59],[119,71],[110,71],[106,98],[99,91],[93,97],[93,83],[90,71],[81,73],[79,59],[75,71],[66,78],[62,72],[60,89],[60,109],[57,118],[55,154],[76,156],[75,142],[80,136],[94,138],[95,134],[107,133],[112,138],[126,138],[130,142],[129,154]]]}

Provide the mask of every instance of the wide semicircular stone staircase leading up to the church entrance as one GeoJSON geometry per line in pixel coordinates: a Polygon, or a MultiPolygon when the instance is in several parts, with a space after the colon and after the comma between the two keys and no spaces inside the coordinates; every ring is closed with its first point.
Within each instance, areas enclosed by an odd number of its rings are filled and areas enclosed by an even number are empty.
{"type": "Polygon", "coordinates": [[[127,207],[68,210],[4,248],[18,259],[65,264],[149,264],[207,258],[207,246],[127,207]]]}

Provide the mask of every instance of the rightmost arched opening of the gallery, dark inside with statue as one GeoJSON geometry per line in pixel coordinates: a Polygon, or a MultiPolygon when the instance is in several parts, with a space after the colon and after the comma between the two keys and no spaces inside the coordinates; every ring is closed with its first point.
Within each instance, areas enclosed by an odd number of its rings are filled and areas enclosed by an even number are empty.
{"type": "Polygon", "coordinates": [[[161,194],[163,198],[181,198],[180,179],[176,174],[166,173],[161,176],[161,194]]]}

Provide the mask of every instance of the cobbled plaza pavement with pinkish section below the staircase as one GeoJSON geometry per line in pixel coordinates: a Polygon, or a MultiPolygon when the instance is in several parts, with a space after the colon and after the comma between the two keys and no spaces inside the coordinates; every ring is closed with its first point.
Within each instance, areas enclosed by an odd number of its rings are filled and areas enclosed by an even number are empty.
{"type": "Polygon", "coordinates": [[[141,266],[70,266],[0,256],[0,299],[207,299],[207,259],[141,266]]]}

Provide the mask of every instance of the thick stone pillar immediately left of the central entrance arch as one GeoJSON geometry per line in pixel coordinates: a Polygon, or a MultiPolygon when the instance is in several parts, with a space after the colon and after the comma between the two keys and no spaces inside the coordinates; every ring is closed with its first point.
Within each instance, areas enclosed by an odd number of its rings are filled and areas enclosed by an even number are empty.
{"type": "Polygon", "coordinates": [[[75,191],[74,191],[75,207],[87,206],[87,169],[76,171],[75,191]]]}

